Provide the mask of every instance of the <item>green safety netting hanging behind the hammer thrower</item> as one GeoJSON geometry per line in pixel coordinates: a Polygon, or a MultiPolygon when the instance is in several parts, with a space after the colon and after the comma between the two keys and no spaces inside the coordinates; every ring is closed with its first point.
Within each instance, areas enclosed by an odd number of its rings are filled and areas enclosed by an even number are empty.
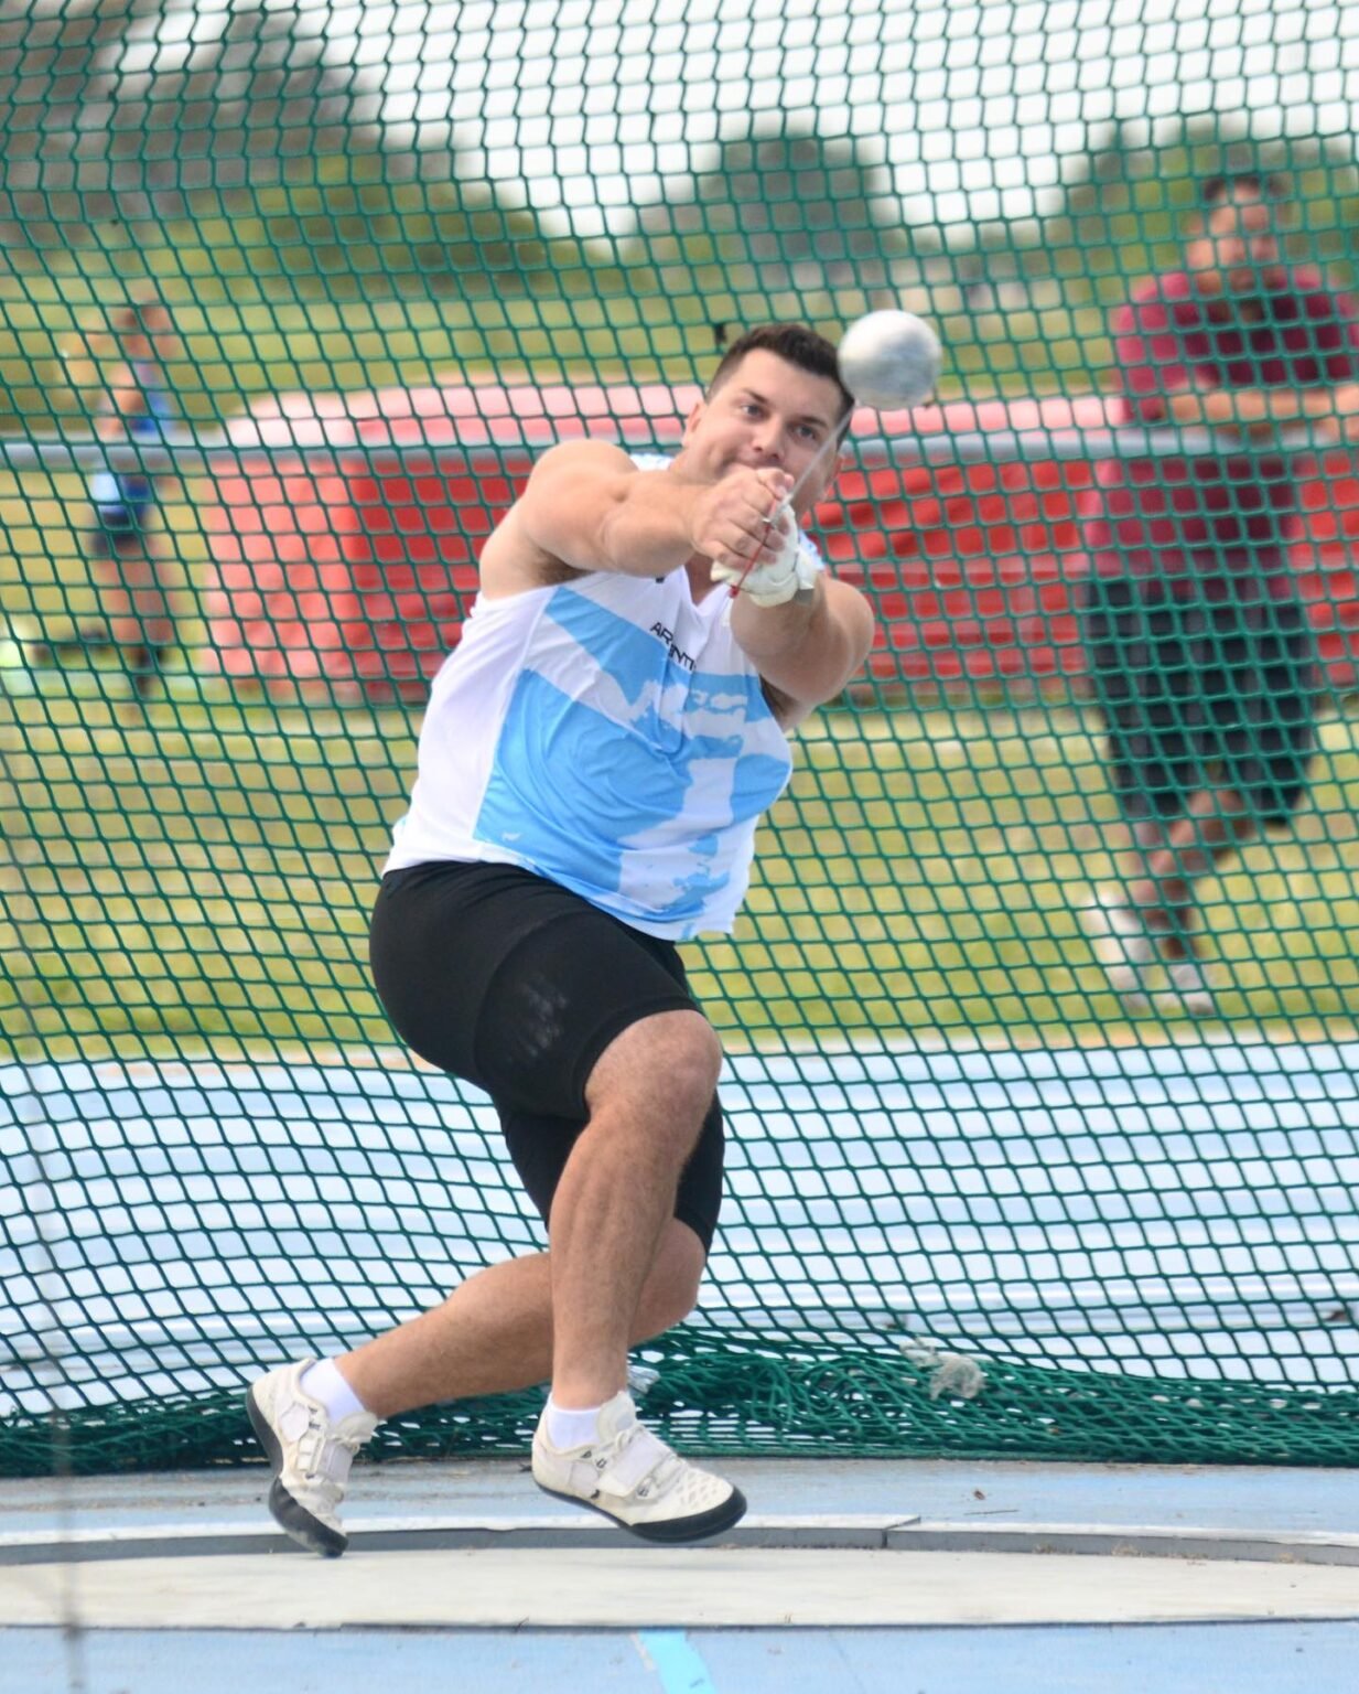
{"type": "Polygon", "coordinates": [[[542,1245],[369,984],[428,679],[535,451],[889,305],[943,405],[817,513],[880,637],[689,950],[728,1203],[645,1404],[1359,1457],[1356,75],[1305,0],[0,3],[0,1470],[244,1455],[259,1365],[542,1245]]]}

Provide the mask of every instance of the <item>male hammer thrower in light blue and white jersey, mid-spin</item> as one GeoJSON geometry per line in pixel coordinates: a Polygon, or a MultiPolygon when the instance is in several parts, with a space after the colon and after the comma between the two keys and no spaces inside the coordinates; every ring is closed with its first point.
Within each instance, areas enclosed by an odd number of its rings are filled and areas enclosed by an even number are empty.
{"type": "Polygon", "coordinates": [[[799,529],[850,407],[829,342],[751,330],[672,462],[553,447],[486,545],[371,957],[401,1037],[494,1101],[548,1252],[252,1386],[271,1509],[305,1547],[344,1552],[350,1459],[379,1420],[545,1381],[547,1492],[652,1542],[745,1511],[636,1421],[628,1348],[692,1309],[718,1221],[721,1047],[675,944],[731,928],[787,732],[873,639],[799,529]]]}

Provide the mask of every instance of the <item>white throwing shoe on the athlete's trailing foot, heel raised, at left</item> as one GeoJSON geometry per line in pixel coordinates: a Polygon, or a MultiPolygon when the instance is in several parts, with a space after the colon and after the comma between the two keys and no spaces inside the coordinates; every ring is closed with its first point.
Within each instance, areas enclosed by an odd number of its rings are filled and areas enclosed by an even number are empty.
{"type": "Polygon", "coordinates": [[[377,1418],[364,1411],[335,1421],[320,1401],[303,1394],[303,1372],[315,1362],[303,1359],[262,1376],[245,1396],[245,1409],[274,1467],[269,1511],[279,1528],[313,1553],[338,1558],[349,1547],[340,1526],[349,1467],[377,1418]]]}

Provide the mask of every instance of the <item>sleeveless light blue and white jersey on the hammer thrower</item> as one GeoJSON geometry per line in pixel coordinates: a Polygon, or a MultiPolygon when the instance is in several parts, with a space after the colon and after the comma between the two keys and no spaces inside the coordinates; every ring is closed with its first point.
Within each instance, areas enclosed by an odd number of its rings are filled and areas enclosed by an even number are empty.
{"type": "Polygon", "coordinates": [[[386,869],[520,864],[648,935],[729,930],[790,771],[724,588],[599,571],[479,598],[386,869]]]}

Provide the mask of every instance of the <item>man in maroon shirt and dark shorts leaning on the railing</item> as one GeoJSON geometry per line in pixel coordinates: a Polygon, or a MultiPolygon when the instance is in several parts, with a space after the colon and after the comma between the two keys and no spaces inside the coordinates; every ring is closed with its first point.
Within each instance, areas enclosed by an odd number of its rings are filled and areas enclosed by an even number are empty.
{"type": "Polygon", "coordinates": [[[1354,432],[1359,307],[1283,264],[1279,185],[1215,178],[1185,268],[1114,317],[1122,424],[1180,429],[1183,454],[1110,459],[1090,525],[1085,640],[1137,867],[1081,911],[1129,1010],[1161,966],[1213,1016],[1195,886],[1307,791],[1320,689],[1290,567],[1310,439],[1354,432]],[[1286,437],[1301,439],[1301,451],[1286,437]]]}

